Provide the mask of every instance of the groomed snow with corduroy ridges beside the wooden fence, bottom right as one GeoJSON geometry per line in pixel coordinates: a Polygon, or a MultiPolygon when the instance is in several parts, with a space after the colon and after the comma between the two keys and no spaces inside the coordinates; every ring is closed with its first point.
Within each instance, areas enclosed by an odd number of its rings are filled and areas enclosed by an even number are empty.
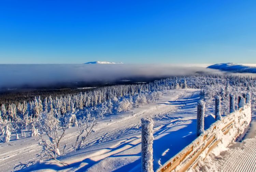
{"type": "Polygon", "coordinates": [[[195,171],[256,171],[256,121],[251,122],[242,142],[232,142],[218,156],[211,153],[204,161],[198,163],[195,171]]]}

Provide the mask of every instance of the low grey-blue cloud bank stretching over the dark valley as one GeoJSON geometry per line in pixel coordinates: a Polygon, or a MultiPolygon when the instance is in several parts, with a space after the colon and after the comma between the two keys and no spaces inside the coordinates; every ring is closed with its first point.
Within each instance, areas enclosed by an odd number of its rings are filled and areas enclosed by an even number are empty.
{"type": "Polygon", "coordinates": [[[177,67],[175,65],[85,65],[85,64],[39,64],[0,65],[0,88],[24,85],[48,86],[77,81],[111,82],[133,77],[162,77],[187,75],[202,71],[216,73],[217,70],[203,67],[177,67]]]}

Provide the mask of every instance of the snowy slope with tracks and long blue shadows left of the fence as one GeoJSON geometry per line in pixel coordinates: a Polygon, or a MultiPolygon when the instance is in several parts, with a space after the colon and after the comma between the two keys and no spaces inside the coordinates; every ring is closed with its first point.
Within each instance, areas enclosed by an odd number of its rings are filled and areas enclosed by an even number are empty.
{"type": "MultiPolygon", "coordinates": [[[[66,155],[59,159],[69,166],[37,164],[26,170],[140,171],[140,119],[144,117],[154,120],[153,155],[156,170],[196,138],[199,93],[196,89],[167,90],[155,103],[106,116],[98,121],[95,133],[88,137],[87,147],[76,152],[71,152],[71,145],[75,142],[77,128],[70,128],[63,141],[68,148],[66,155]]],[[[214,121],[211,115],[206,116],[205,129],[214,121]]],[[[12,171],[20,162],[27,164],[39,159],[39,141],[37,137],[29,137],[2,143],[0,171],[12,171]]]]}

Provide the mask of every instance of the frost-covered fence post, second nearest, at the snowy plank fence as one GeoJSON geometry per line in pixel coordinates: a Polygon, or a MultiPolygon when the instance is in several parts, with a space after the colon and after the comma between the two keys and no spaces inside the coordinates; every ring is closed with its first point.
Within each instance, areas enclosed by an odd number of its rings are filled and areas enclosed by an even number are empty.
{"type": "Polygon", "coordinates": [[[204,106],[205,102],[199,100],[197,104],[197,137],[204,132],[204,106]]]}

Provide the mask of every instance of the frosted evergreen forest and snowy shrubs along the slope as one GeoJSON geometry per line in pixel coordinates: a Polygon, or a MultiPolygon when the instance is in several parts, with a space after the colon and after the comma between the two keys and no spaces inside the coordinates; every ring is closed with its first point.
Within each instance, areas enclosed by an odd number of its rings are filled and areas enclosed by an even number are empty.
{"type": "MultiPolygon", "coordinates": [[[[65,144],[62,138],[68,128],[79,128],[80,132],[72,145],[74,151],[79,150],[84,147],[87,136],[94,133],[94,126],[99,119],[155,102],[164,90],[201,89],[200,97],[206,102],[206,107],[213,107],[214,97],[220,96],[221,113],[225,115],[229,114],[230,94],[236,94],[236,100],[238,94],[247,91],[251,91],[252,96],[255,96],[255,87],[256,78],[249,76],[198,74],[173,76],[148,84],[104,86],[79,94],[50,96],[44,100],[39,96],[35,97],[34,101],[2,104],[1,142],[39,135],[40,145],[43,147],[41,159],[58,161],[57,157],[65,154],[65,146],[63,150],[59,150],[59,145],[65,144]],[[16,138],[11,139],[12,134],[15,134],[16,138]]],[[[209,113],[213,113],[211,108],[207,109],[209,113]]]]}

